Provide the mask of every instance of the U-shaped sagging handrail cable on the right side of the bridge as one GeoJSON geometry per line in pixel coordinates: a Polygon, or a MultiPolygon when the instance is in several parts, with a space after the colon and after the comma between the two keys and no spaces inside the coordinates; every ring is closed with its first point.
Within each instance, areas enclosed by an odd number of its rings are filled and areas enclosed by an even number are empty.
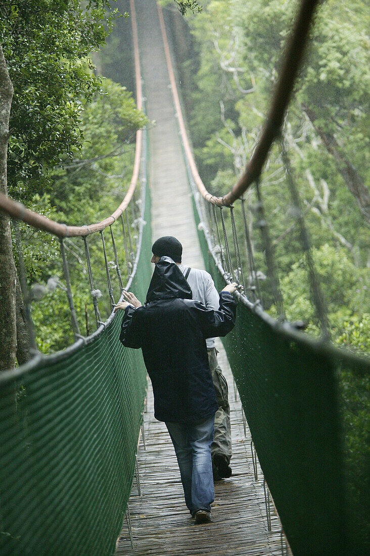
{"type": "Polygon", "coordinates": [[[162,9],[159,4],[157,4],[167,69],[169,72],[172,96],[174,97],[182,142],[184,143],[184,150],[186,156],[188,157],[191,173],[193,173],[193,178],[199,192],[206,201],[213,203],[213,205],[232,205],[232,203],[236,199],[240,198],[248,189],[248,187],[259,177],[264,162],[267,159],[270,148],[274,140],[280,135],[285,112],[287,110],[290,97],[292,96],[293,87],[297,79],[298,69],[300,66],[300,62],[302,61],[305,44],[307,43],[310,24],[312,22],[315,8],[318,3],[318,0],[303,0],[300,5],[298,17],[295,21],[293,32],[287,44],[286,53],[282,63],[282,69],[279,74],[278,83],[272,99],[272,105],[266,118],[262,134],[254,149],[253,155],[251,156],[248,165],[246,166],[245,172],[236,182],[235,186],[229,191],[229,193],[227,193],[223,197],[216,197],[206,190],[196,168],[193,152],[190,148],[188,134],[186,133],[184,118],[182,117],[181,104],[179,94],[177,92],[175,74],[172,67],[170,48],[167,41],[162,9]]]}

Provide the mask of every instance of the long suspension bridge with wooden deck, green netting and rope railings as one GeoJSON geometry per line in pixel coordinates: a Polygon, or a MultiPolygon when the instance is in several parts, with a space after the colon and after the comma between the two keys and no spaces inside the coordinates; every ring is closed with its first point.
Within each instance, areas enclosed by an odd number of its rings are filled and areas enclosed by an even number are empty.
{"type": "MultiPolygon", "coordinates": [[[[210,195],[196,171],[161,8],[155,0],[131,0],[137,105],[156,125],[137,132],[124,201],[102,222],[65,226],[0,200],[15,221],[60,239],[75,334],[74,344],[62,352],[36,354],[0,375],[1,554],[359,554],[351,521],[363,500],[348,494],[353,483],[343,454],[337,371],[363,375],[369,362],[329,344],[313,268],[321,340],[263,311],[258,284],[248,289],[243,275],[240,250],[242,245],[248,249],[248,226],[245,237],[238,237],[234,220],[236,203],[245,215],[242,192],[257,182],[258,222],[264,221],[259,176],[279,136],[302,54],[297,42],[304,42],[316,3],[302,2],[286,57],[290,65],[282,68],[262,139],[245,175],[225,197],[210,195]],[[140,223],[136,245],[130,219],[140,223]],[[92,296],[97,329],[88,337],[80,333],[64,242],[68,237],[83,242],[94,292],[96,269],[89,252],[94,234],[101,235],[111,309],[125,277],[126,289],[144,301],[152,239],[161,235],[176,236],[184,263],[208,270],[219,290],[225,280],[244,282],[246,296],[236,294],[235,329],[217,346],[230,386],[233,476],[215,485],[210,524],[195,527],[185,508],[169,436],[152,415],[141,353],[118,341],[119,314],[102,322],[92,296]],[[116,248],[119,234],[122,253],[116,248]],[[115,280],[110,259],[115,260],[115,280]]],[[[304,232],[303,220],[300,225],[304,232]]],[[[22,244],[14,230],[22,275],[22,244]]],[[[260,232],[279,306],[266,227],[260,232]]],[[[248,253],[253,276],[255,263],[248,253]]],[[[27,299],[24,276],[23,296],[27,299]]]]}

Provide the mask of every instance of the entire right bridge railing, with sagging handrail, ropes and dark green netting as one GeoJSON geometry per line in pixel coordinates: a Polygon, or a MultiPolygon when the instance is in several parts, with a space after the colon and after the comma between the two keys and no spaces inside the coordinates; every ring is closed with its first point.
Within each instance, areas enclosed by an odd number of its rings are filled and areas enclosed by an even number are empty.
{"type": "MultiPolygon", "coordinates": [[[[289,191],[298,215],[311,294],[322,332],[320,340],[300,332],[298,323],[293,326],[285,321],[259,186],[263,163],[274,139],[281,133],[315,4],[317,2],[302,2],[262,137],[244,175],[224,197],[206,191],[196,170],[160,8],[159,17],[206,270],[213,276],[219,290],[225,281],[236,280],[244,286],[244,294],[236,293],[239,304],[235,329],[223,339],[223,343],[264,481],[272,494],[293,554],[354,556],[363,549],[363,529],[368,527],[367,503],[362,495],[367,480],[366,471],[363,472],[366,466],[362,465],[357,473],[356,458],[362,457],[363,450],[361,441],[357,444],[353,441],[357,437],[366,442],[361,419],[357,418],[366,411],[367,402],[362,393],[359,395],[362,401],[354,407],[342,389],[341,377],[347,375],[347,379],[358,385],[361,391],[363,384],[359,383],[368,376],[370,361],[336,349],[329,342],[329,327],[309,238],[282,142],[289,191]],[[262,235],[278,320],[263,310],[259,271],[251,248],[243,194],[252,182],[255,182],[257,197],[254,227],[260,229],[262,235]],[[231,205],[234,201],[240,205],[231,205]],[[236,233],[235,211],[239,212],[239,220],[244,221],[244,237],[236,233]],[[356,430],[353,429],[354,423],[357,424],[356,430]]],[[[250,455],[254,457],[254,450],[250,455]]],[[[269,510],[267,523],[270,529],[269,510]]]]}

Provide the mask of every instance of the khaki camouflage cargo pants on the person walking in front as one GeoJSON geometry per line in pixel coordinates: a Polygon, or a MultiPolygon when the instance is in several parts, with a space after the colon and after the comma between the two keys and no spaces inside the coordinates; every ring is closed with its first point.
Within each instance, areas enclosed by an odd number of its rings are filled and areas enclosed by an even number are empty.
{"type": "Polygon", "coordinates": [[[208,350],[209,366],[216,391],[217,403],[219,404],[219,409],[215,415],[215,435],[211,445],[211,454],[212,456],[217,453],[224,454],[229,463],[232,454],[229,388],[218,364],[217,354],[218,351],[215,347],[208,350]]]}

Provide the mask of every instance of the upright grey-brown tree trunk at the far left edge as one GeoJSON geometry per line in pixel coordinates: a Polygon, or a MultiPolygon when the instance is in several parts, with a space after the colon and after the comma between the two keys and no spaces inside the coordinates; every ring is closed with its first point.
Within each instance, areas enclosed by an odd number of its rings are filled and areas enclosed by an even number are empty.
{"type": "MultiPolygon", "coordinates": [[[[13,86],[0,45],[0,192],[7,195],[7,148],[13,86]]],[[[16,267],[8,216],[0,214],[0,371],[16,365],[16,267]]]]}

